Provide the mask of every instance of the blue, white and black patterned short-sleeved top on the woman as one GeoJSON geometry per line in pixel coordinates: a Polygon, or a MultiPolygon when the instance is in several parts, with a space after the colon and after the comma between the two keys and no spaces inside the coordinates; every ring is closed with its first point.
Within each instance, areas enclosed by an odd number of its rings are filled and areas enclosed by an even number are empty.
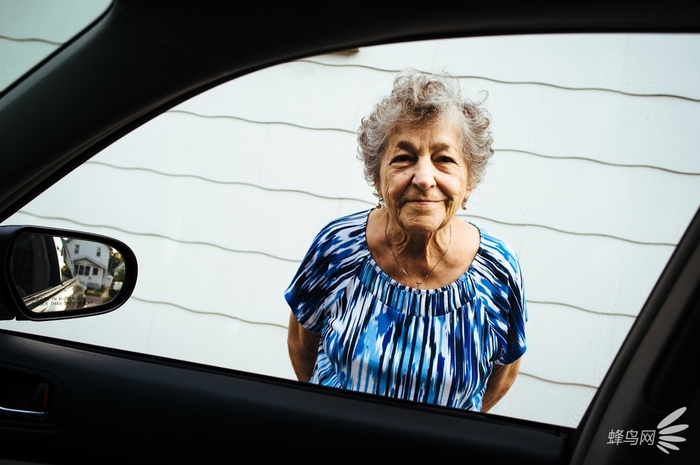
{"type": "Polygon", "coordinates": [[[469,269],[440,289],[414,289],[384,273],[365,230],[369,212],[339,218],[314,240],[285,293],[320,333],[311,383],[481,410],[492,364],[525,352],[520,265],[480,230],[469,269]]]}

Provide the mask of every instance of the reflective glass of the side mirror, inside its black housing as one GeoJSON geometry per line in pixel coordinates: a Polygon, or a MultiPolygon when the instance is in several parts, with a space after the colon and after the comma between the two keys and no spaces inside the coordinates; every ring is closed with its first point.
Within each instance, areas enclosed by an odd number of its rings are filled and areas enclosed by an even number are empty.
{"type": "Polygon", "coordinates": [[[10,270],[34,313],[81,310],[112,301],[126,276],[122,254],[106,244],[44,234],[19,234],[10,270]]]}

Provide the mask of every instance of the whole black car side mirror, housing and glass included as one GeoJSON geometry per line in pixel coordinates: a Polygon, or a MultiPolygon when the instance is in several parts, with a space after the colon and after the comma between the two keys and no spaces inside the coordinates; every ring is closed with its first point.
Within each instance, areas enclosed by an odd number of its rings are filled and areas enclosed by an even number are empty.
{"type": "Polygon", "coordinates": [[[78,231],[0,226],[0,267],[0,319],[107,313],[136,286],[136,256],[126,244],[78,231]]]}

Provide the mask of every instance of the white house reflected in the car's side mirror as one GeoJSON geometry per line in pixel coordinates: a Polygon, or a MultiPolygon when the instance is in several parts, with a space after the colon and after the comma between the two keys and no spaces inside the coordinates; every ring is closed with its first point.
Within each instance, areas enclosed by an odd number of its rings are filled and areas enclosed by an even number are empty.
{"type": "Polygon", "coordinates": [[[109,248],[97,242],[69,239],[66,241],[78,279],[88,289],[109,288],[113,277],[109,274],[109,248]]]}

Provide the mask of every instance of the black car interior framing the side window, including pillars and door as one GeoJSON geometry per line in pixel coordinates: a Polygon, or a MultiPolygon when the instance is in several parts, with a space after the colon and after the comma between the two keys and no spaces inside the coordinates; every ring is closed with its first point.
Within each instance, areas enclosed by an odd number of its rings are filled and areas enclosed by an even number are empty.
{"type": "MultiPolygon", "coordinates": [[[[355,7],[310,14],[303,7],[202,5],[117,0],[91,29],[2,95],[0,147],[22,156],[3,160],[0,220],[161,112],[220,82],[290,59],[439,37],[700,32],[699,7],[691,3],[486,2],[420,14],[355,7]]],[[[604,443],[607,431],[649,422],[655,426],[668,413],[668,397],[680,395],[676,388],[685,379],[667,376],[677,367],[650,354],[660,346],[697,353],[692,337],[698,331],[698,295],[691,291],[700,287],[699,242],[696,216],[575,431],[2,330],[0,374],[15,373],[18,381],[5,379],[10,388],[0,389],[0,398],[16,397],[15,390],[29,386],[20,395],[32,402],[35,391],[43,393],[42,383],[47,383],[45,405],[51,410],[39,422],[0,413],[0,455],[47,463],[145,456],[201,462],[222,455],[231,460],[323,460],[325,454],[620,463],[604,443]],[[692,317],[683,321],[684,314],[692,317]],[[143,450],[147,455],[141,455],[143,450]]],[[[693,384],[683,394],[687,400],[682,399],[694,412],[697,393],[693,384]]],[[[698,425],[698,414],[693,415],[688,421],[698,425]]],[[[664,463],[689,463],[696,451],[697,446],[688,447],[664,463]]],[[[665,459],[659,456],[657,463],[665,459]]]]}

